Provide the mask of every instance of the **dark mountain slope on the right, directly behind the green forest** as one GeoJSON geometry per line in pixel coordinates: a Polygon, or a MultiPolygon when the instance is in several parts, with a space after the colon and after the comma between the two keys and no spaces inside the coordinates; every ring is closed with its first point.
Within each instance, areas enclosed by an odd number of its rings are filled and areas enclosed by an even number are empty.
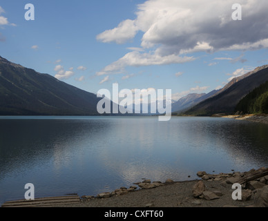
{"type": "Polygon", "coordinates": [[[268,80],[268,65],[261,66],[242,77],[234,78],[218,93],[203,102],[189,108],[185,115],[213,115],[216,113],[234,113],[240,100],[254,88],[268,80]]]}

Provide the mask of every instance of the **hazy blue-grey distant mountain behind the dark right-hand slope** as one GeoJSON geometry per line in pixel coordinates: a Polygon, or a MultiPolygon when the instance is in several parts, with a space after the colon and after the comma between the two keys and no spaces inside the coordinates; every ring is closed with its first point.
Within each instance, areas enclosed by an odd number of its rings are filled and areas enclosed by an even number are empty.
{"type": "Polygon", "coordinates": [[[182,97],[178,100],[178,102],[174,102],[172,104],[172,112],[173,113],[181,113],[182,111],[186,111],[186,109],[195,106],[196,104],[202,102],[204,99],[207,99],[217,93],[218,90],[213,90],[210,93],[202,93],[202,94],[189,94],[185,97],[182,97]]]}

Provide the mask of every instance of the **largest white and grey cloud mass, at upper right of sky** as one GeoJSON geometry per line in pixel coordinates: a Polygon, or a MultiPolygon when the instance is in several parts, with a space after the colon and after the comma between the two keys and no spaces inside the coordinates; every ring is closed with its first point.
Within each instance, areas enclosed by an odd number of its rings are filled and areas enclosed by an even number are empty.
{"type": "Polygon", "coordinates": [[[242,21],[233,21],[233,3],[233,0],[147,0],[141,3],[135,19],[122,21],[117,27],[97,35],[97,39],[123,44],[142,32],[140,40],[144,52],[127,53],[104,68],[103,74],[125,66],[183,63],[193,57],[182,59],[182,55],[195,52],[268,48],[267,1],[236,1],[242,6],[242,21]]]}

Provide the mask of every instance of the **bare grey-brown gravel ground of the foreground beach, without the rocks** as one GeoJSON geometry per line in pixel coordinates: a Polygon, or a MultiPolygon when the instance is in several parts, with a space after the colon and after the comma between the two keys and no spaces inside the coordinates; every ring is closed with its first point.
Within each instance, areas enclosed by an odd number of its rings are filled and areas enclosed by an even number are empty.
{"type": "Polygon", "coordinates": [[[253,206],[254,199],[242,202],[233,200],[234,189],[231,184],[222,185],[222,181],[203,180],[208,191],[220,191],[222,196],[216,200],[194,198],[193,186],[198,180],[173,182],[154,189],[139,189],[126,195],[114,195],[111,198],[94,198],[68,207],[245,207],[253,206]]]}

